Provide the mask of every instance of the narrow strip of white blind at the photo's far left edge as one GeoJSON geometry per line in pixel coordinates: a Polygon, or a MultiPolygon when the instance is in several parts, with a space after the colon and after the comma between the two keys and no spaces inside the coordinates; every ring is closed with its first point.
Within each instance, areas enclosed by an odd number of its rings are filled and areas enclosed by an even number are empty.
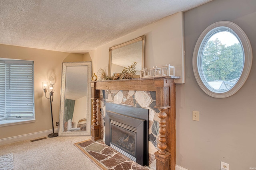
{"type": "Polygon", "coordinates": [[[0,63],[0,119],[4,119],[5,105],[5,64],[0,63]]]}

